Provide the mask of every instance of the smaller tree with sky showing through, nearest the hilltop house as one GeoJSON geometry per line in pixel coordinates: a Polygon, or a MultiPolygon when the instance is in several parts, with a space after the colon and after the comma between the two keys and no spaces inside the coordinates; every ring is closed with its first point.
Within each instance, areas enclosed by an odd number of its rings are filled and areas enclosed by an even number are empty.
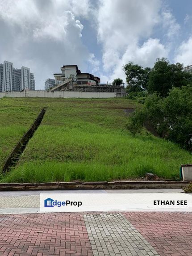
{"type": "Polygon", "coordinates": [[[146,89],[148,83],[150,67],[143,68],[138,64],[129,62],[123,67],[126,75],[127,88],[129,92],[141,92],[146,89]]]}

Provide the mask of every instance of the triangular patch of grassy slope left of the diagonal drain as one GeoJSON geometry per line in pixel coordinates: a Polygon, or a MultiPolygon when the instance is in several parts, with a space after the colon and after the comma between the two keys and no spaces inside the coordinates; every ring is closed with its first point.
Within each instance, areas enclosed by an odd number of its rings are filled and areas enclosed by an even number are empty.
{"type": "Polygon", "coordinates": [[[0,170],[17,144],[37,117],[39,107],[14,105],[14,101],[0,99],[0,170]]]}

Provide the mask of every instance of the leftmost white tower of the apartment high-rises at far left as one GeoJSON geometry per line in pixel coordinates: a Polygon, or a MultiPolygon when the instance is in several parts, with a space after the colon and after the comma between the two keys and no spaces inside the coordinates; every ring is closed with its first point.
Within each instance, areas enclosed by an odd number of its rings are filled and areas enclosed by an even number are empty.
{"type": "Polygon", "coordinates": [[[3,84],[2,84],[2,90],[4,92],[12,91],[12,78],[13,78],[13,63],[5,60],[3,63],[3,84]]]}

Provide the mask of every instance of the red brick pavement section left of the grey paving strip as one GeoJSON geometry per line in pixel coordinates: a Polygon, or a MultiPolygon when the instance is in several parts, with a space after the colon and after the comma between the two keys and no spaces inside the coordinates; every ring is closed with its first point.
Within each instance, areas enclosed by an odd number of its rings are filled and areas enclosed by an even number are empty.
{"type": "Polygon", "coordinates": [[[0,255],[92,256],[83,214],[0,215],[0,255]]]}

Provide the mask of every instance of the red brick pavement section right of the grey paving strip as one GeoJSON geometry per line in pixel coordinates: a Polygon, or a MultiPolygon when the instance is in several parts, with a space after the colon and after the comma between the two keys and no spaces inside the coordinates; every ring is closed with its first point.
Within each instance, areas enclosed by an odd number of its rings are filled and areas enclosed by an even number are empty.
{"type": "Polygon", "coordinates": [[[129,212],[124,215],[161,256],[192,256],[192,213],[129,212]]]}

